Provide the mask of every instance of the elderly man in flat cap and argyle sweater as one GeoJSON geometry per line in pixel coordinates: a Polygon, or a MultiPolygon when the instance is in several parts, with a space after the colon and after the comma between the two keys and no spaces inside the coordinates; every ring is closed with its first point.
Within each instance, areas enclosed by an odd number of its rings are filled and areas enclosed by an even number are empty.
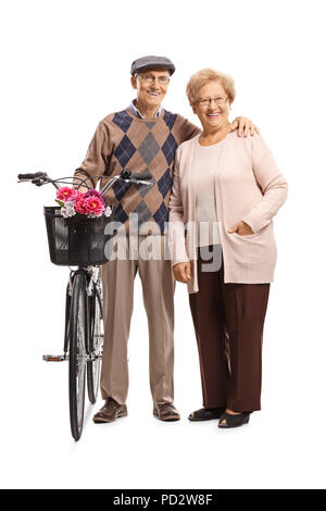
{"type": "MultiPolygon", "coordinates": [[[[168,217],[172,169],[177,147],[199,133],[199,128],[179,114],[163,109],[175,66],[164,57],[143,57],[131,64],[131,86],[137,99],[121,112],[104,117],[98,125],[87,155],[75,175],[88,177],[96,187],[96,175],[117,175],[122,169],[148,172],[150,187],[138,189],[116,182],[105,199],[115,205],[114,220],[126,232],[138,215],[138,244],[146,233],[141,226],[153,226],[164,238],[168,217]],[[131,215],[133,214],[133,215],[131,215]]],[[[244,136],[255,126],[246,119],[236,120],[233,129],[244,136]]],[[[153,414],[162,421],[177,421],[174,407],[174,288],[171,261],[138,258],[110,260],[101,267],[103,284],[104,347],[101,394],[104,406],[93,416],[96,423],[108,423],[127,415],[128,391],[127,342],[133,312],[134,279],[137,271],[142,284],[150,339],[150,388],[153,414]]]]}

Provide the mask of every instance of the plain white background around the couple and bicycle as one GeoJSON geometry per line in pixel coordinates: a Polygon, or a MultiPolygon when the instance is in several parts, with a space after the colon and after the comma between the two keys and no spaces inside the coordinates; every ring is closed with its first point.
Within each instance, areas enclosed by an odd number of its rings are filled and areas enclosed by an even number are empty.
{"type": "Polygon", "coordinates": [[[2,1],[1,34],[1,486],[7,488],[325,488],[325,1],[2,1]],[[72,174],[97,123],[134,97],[129,66],[170,57],[164,105],[197,122],[189,76],[229,73],[231,117],[261,128],[289,182],[275,219],[278,263],[265,322],[261,412],[230,432],[192,424],[201,407],[186,288],[176,290],[175,403],[152,416],[139,279],[129,339],[126,419],[96,426],[86,408],[70,436],[62,352],[67,269],[51,265],[42,204],[52,189],[20,172],[72,174]]]}

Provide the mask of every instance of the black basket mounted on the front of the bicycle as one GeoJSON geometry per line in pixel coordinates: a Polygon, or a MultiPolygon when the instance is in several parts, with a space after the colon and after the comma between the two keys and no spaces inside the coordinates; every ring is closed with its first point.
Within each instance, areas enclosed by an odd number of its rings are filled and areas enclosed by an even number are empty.
{"type": "Polygon", "coordinates": [[[76,213],[65,219],[58,207],[45,207],[50,259],[61,266],[104,264],[105,244],[111,235],[104,234],[111,216],[88,219],[76,213]]]}

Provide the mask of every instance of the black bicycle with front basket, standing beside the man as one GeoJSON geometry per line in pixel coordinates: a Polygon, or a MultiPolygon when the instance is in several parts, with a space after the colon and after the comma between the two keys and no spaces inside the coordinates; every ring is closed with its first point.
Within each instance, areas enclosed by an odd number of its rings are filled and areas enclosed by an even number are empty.
{"type": "MultiPolygon", "coordinates": [[[[121,179],[131,185],[148,185],[151,175],[146,173],[131,173],[123,170],[116,176],[93,176],[99,179],[109,179],[101,189],[102,195],[121,179]]],[[[48,174],[37,172],[34,174],[18,174],[18,183],[28,182],[38,187],[51,184],[55,189],[62,185],[73,185],[75,188],[89,187],[77,176],[52,179],[48,174]]],[[[102,288],[99,265],[108,262],[105,244],[110,238],[105,229],[111,216],[89,219],[83,215],[64,217],[60,207],[43,208],[50,259],[53,264],[77,266],[70,273],[65,292],[65,320],[63,354],[45,354],[47,362],[68,361],[68,397],[71,432],[77,441],[83,432],[85,386],[87,375],[87,390],[89,401],[97,400],[101,372],[104,327],[102,309],[102,288]]],[[[112,235],[111,235],[112,236],[112,235]]]]}

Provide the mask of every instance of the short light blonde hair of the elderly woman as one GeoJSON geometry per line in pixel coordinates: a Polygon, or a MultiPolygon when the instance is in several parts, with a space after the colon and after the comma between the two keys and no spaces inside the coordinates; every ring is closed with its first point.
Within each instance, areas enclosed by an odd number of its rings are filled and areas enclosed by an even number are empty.
{"type": "Polygon", "coordinates": [[[236,97],[234,78],[225,73],[206,67],[190,76],[187,84],[186,94],[191,105],[197,101],[199,90],[211,82],[220,82],[227,94],[229,102],[234,102],[236,97]]]}

